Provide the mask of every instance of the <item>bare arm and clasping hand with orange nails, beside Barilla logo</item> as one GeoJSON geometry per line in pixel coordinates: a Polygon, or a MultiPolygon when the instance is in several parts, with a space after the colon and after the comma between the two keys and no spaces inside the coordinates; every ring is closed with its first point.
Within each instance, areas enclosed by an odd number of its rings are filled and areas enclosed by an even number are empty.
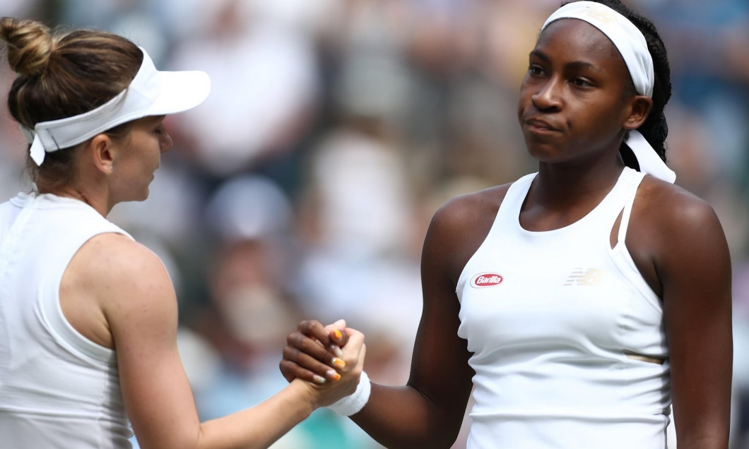
{"type": "MultiPolygon", "coordinates": [[[[449,448],[461,427],[473,369],[458,337],[455,284],[486,236],[506,187],[451,201],[432,220],[422,254],[423,311],[410,379],[402,387],[372,385],[372,395],[351,418],[387,448],[449,448]]],[[[320,323],[304,322],[288,338],[281,369],[286,379],[322,373],[331,343],[320,323]],[[315,340],[323,344],[315,349],[315,340]]],[[[336,343],[345,344],[345,342],[336,343]]],[[[345,346],[344,346],[345,347],[345,346]]]]}

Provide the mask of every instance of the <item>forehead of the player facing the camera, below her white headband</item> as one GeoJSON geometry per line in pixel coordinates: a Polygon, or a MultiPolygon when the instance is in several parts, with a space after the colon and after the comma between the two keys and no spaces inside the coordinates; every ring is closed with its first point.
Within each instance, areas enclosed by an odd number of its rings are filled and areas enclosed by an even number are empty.
{"type": "Polygon", "coordinates": [[[580,19],[559,19],[539,34],[536,50],[549,58],[583,58],[605,68],[619,64],[626,69],[624,58],[613,42],[598,28],[580,19]]]}

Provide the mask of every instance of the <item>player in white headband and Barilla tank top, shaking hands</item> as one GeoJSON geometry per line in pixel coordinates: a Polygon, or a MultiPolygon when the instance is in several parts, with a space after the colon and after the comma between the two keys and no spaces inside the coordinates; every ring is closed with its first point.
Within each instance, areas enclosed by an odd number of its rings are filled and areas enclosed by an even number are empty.
{"type": "MultiPolygon", "coordinates": [[[[664,163],[669,80],[619,1],[549,17],[518,102],[539,171],[436,213],[410,379],[362,375],[343,414],[387,448],[449,448],[473,389],[470,449],[664,449],[673,404],[679,449],[727,448],[730,258],[664,163]]],[[[331,329],[300,323],[287,379],[324,372],[332,355],[297,349],[331,329]]]]}

